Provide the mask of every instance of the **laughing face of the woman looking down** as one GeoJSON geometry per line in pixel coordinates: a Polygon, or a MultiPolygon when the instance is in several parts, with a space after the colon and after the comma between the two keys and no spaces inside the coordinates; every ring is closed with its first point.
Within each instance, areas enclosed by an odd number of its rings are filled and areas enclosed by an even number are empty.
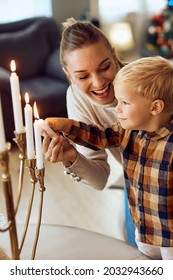
{"type": "Polygon", "coordinates": [[[78,88],[100,104],[112,102],[115,98],[112,82],[117,67],[113,51],[105,43],[84,46],[65,53],[65,72],[78,88]]]}

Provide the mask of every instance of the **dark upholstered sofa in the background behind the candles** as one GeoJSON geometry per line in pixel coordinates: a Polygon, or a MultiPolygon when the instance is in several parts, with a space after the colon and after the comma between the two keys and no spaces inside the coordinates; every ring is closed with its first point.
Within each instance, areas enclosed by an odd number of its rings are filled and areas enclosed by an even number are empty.
{"type": "Polygon", "coordinates": [[[0,93],[6,139],[14,137],[10,90],[10,62],[16,62],[20,79],[22,108],[24,94],[30,104],[37,102],[41,118],[66,117],[68,81],[59,61],[61,29],[53,18],[35,17],[0,24],[0,93]]]}

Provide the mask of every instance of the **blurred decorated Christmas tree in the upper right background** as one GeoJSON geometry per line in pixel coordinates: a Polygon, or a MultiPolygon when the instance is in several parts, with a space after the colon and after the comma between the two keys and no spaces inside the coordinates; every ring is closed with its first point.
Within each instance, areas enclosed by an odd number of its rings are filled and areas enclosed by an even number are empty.
{"type": "Polygon", "coordinates": [[[144,55],[173,57],[173,0],[161,13],[153,15],[146,34],[144,55]]]}

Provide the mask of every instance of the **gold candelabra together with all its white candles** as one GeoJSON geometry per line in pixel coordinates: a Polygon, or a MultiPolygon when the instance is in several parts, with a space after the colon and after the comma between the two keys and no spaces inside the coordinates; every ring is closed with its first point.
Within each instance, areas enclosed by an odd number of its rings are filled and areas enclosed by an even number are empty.
{"type": "Polygon", "coordinates": [[[38,183],[39,190],[40,190],[40,205],[38,209],[38,221],[36,226],[35,239],[33,243],[32,255],[31,255],[31,258],[34,259],[38,238],[39,238],[40,225],[41,225],[43,193],[45,191],[45,187],[44,187],[45,169],[44,169],[43,155],[42,155],[41,128],[47,130],[48,132],[52,132],[52,133],[55,132],[53,132],[50,129],[50,127],[48,127],[46,123],[44,123],[42,119],[39,119],[36,103],[34,108],[35,109],[34,114],[36,120],[34,121],[33,124],[32,108],[29,104],[28,93],[25,94],[26,106],[24,108],[24,114],[25,114],[25,127],[24,127],[23,117],[22,117],[22,107],[21,107],[21,95],[20,95],[20,88],[19,88],[19,78],[15,73],[15,70],[16,70],[15,61],[12,60],[11,61],[12,73],[10,76],[10,85],[11,85],[13,113],[14,113],[14,122],[15,122],[14,141],[17,144],[19,150],[19,160],[20,160],[18,194],[17,194],[16,203],[14,203],[11,176],[9,170],[9,153],[11,150],[11,145],[10,143],[6,143],[5,140],[3,114],[2,114],[1,100],[0,100],[0,164],[2,167],[2,184],[4,189],[6,215],[7,215],[7,223],[6,225],[0,226],[0,232],[9,231],[12,259],[20,259],[21,251],[23,248],[24,241],[26,239],[26,233],[30,222],[31,210],[32,210],[33,199],[35,194],[35,187],[36,184],[38,183]],[[35,147],[34,147],[33,130],[35,136],[35,147]],[[21,242],[19,244],[17,227],[16,227],[16,215],[19,209],[21,194],[23,190],[25,165],[27,165],[27,169],[29,171],[32,191],[31,191],[31,197],[27,209],[23,234],[22,234],[21,242]]]}

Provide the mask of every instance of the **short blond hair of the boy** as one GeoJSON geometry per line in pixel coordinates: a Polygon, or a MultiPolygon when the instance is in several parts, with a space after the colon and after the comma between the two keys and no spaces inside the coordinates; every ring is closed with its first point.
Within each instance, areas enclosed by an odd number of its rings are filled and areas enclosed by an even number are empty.
{"type": "Polygon", "coordinates": [[[165,109],[173,112],[173,66],[161,56],[144,57],[124,66],[114,84],[126,83],[135,94],[151,100],[163,100],[165,109]]]}

